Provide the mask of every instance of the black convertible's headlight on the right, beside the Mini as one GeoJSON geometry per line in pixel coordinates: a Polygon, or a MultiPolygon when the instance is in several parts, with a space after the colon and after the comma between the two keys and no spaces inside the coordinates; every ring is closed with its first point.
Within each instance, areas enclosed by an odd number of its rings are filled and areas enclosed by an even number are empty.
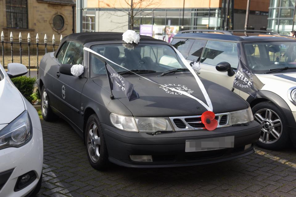
{"type": "Polygon", "coordinates": [[[248,123],[254,120],[250,107],[248,109],[230,112],[230,125],[248,123]]]}

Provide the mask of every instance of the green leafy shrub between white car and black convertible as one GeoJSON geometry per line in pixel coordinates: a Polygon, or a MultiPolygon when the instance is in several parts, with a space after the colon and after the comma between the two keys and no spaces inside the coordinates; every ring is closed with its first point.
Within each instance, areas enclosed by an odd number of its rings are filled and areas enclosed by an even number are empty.
{"type": "Polygon", "coordinates": [[[34,91],[34,85],[36,83],[36,78],[35,77],[29,78],[26,76],[20,76],[20,77],[12,78],[11,81],[19,89],[19,91],[24,95],[24,97],[30,103],[32,103],[32,101],[34,99],[32,94],[34,91]]]}

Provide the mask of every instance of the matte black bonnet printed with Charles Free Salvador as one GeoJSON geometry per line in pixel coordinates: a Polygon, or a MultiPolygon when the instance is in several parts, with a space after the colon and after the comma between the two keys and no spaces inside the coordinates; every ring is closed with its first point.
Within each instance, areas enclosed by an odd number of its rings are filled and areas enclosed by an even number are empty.
{"type": "MultiPolygon", "coordinates": [[[[140,77],[123,75],[130,83],[134,84],[140,96],[139,99],[129,101],[122,91],[113,91],[134,116],[182,116],[201,115],[207,111],[199,102],[185,95],[180,95],[165,87],[158,86],[140,77]]],[[[147,77],[147,76],[146,76],[147,77]]],[[[152,81],[167,87],[185,91],[204,103],[205,98],[191,74],[167,75],[162,77],[149,77],[152,81]]],[[[213,112],[223,113],[236,111],[248,107],[246,102],[226,88],[208,80],[202,79],[205,89],[212,101],[213,112]]],[[[93,78],[93,81],[110,91],[107,78],[93,78]]]]}

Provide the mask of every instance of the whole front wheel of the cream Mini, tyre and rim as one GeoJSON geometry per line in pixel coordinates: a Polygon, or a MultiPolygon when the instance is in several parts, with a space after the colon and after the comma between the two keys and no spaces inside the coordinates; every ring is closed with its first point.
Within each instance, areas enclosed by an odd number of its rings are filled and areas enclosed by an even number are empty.
{"type": "Polygon", "coordinates": [[[257,145],[279,150],[289,144],[289,131],[282,112],[270,101],[258,103],[252,108],[254,119],[260,123],[261,135],[257,145]]]}

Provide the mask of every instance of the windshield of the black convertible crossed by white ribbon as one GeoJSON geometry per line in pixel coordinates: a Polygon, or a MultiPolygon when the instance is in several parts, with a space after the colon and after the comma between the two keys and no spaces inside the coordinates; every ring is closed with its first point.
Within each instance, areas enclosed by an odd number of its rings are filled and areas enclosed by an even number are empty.
{"type": "MultiPolygon", "coordinates": [[[[141,70],[145,73],[163,73],[168,70],[186,68],[174,49],[165,44],[139,43],[131,44],[102,44],[91,47],[95,52],[129,70],[141,70]]],[[[91,54],[91,77],[106,75],[107,62],[117,72],[124,72],[121,68],[104,58],[91,54]]],[[[130,73],[126,73],[130,74],[130,73]]]]}

